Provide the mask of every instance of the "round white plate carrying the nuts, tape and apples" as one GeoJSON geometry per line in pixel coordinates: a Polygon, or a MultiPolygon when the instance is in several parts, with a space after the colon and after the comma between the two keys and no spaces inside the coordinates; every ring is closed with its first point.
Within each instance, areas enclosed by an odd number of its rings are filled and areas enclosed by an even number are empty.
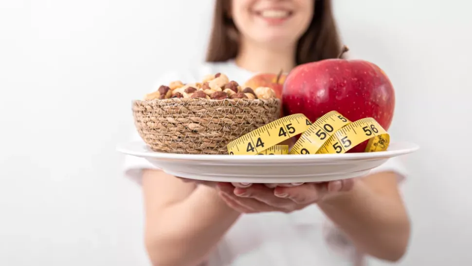
{"type": "Polygon", "coordinates": [[[322,182],[360,177],[388,158],[418,150],[418,145],[392,142],[386,152],[299,155],[198,155],[153,152],[143,142],[117,150],[142,157],[168,174],[190,179],[240,183],[322,182]]]}

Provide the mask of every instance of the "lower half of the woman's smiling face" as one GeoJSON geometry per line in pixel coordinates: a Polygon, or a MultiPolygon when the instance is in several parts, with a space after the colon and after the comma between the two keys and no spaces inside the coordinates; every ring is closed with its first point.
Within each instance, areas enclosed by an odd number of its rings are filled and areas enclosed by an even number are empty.
{"type": "Polygon", "coordinates": [[[242,38],[268,46],[295,44],[313,17],[314,0],[232,0],[242,38]]]}

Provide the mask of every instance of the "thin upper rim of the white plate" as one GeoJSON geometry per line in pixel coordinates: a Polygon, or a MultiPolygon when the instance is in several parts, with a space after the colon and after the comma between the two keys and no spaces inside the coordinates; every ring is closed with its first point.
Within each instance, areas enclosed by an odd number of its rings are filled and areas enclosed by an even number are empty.
{"type": "Polygon", "coordinates": [[[140,149],[145,149],[147,145],[142,141],[128,141],[121,142],[116,145],[116,151],[146,159],[172,159],[172,160],[191,160],[191,161],[248,161],[251,160],[253,163],[261,163],[267,161],[277,161],[280,159],[288,161],[306,161],[306,160],[365,160],[375,159],[381,157],[395,157],[399,155],[405,155],[408,153],[416,152],[419,150],[419,145],[410,141],[395,141],[392,143],[401,143],[406,145],[408,148],[384,151],[384,152],[358,152],[358,153],[342,153],[342,154],[292,154],[287,155],[271,155],[271,156],[254,156],[254,155],[226,155],[226,154],[181,154],[181,153],[165,153],[165,152],[152,152],[152,151],[130,151],[131,145],[141,146],[140,149]]]}

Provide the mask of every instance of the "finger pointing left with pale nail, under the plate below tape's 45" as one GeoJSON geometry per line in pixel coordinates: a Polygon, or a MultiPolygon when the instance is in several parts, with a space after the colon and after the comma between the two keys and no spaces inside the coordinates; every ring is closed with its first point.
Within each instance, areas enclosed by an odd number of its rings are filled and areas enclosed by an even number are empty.
{"type": "Polygon", "coordinates": [[[319,201],[324,193],[323,184],[306,183],[290,188],[276,188],[276,197],[287,198],[297,204],[309,204],[319,201]]]}

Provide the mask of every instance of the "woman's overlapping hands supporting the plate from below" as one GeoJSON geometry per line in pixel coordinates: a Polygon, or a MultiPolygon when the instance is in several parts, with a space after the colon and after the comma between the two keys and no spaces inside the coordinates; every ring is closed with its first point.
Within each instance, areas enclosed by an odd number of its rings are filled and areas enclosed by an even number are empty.
{"type": "Polygon", "coordinates": [[[266,211],[288,213],[318,203],[327,196],[349,191],[353,186],[354,179],[280,184],[275,188],[264,184],[218,183],[220,197],[228,206],[241,213],[266,211]]]}

